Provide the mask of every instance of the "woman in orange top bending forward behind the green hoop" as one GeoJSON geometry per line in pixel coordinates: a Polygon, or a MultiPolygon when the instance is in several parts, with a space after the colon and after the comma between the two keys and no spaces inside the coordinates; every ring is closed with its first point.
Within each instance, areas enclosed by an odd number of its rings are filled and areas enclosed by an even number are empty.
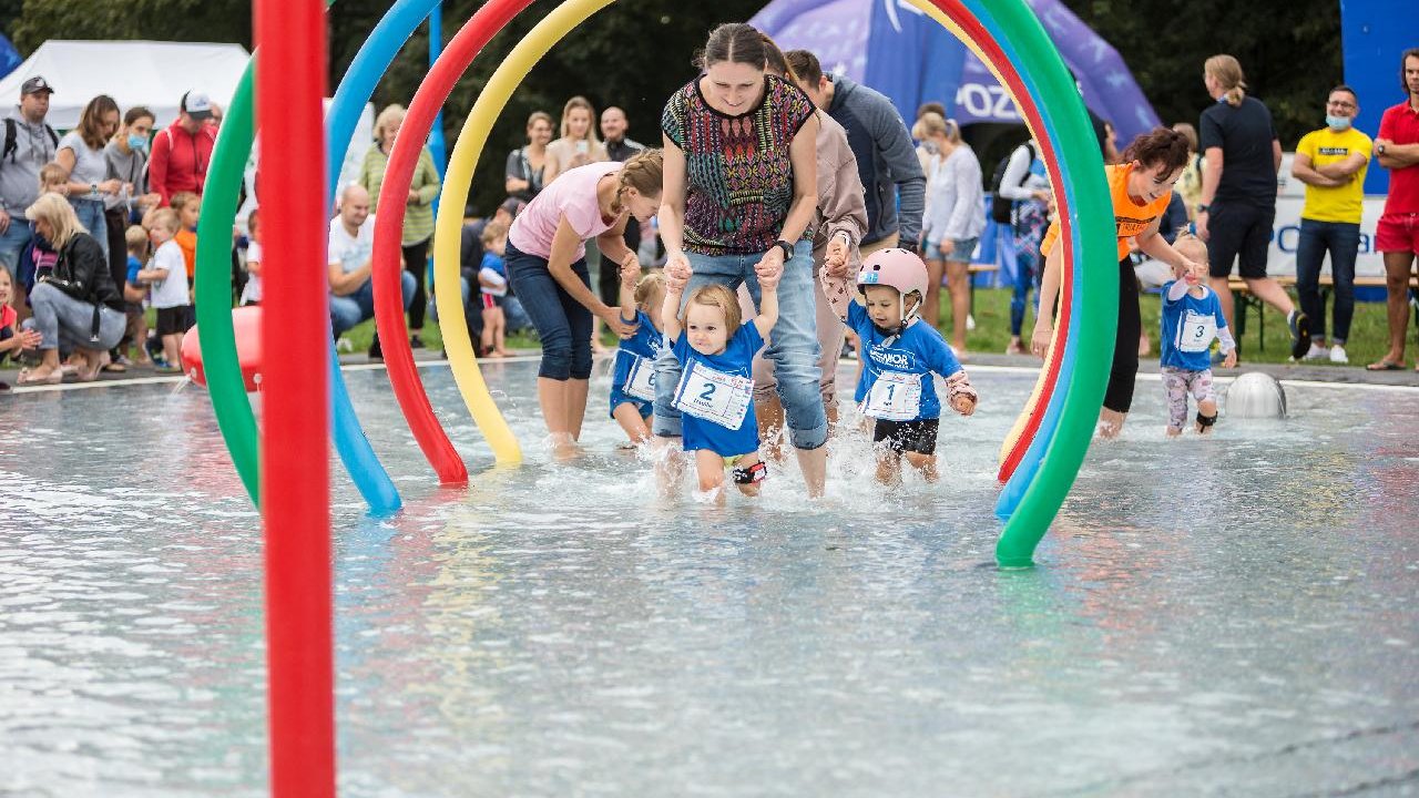
{"type": "MultiPolygon", "coordinates": [[[[1172,199],[1172,185],[1188,163],[1188,139],[1168,128],[1154,128],[1142,133],[1124,151],[1122,163],[1104,166],[1108,193],[1114,200],[1114,220],[1118,226],[1118,337],[1114,341],[1114,365],[1104,392],[1104,409],[1098,415],[1098,432],[1114,437],[1124,429],[1124,419],[1134,400],[1134,378],[1138,375],[1138,278],[1128,258],[1128,239],[1152,258],[1174,267],[1178,275],[1193,267],[1172,244],[1158,234],[1158,222],[1172,199]]],[[[1060,288],[1060,267],[1064,248],[1056,247],[1059,222],[1050,224],[1040,244],[1044,274],[1040,281],[1040,318],[1034,321],[1030,348],[1044,356],[1054,337],[1054,300],[1060,288]]]]}

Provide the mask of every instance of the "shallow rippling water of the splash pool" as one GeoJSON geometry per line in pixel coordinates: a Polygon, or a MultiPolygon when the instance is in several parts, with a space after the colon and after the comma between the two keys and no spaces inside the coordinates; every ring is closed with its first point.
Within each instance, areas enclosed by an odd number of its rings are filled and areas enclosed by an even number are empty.
{"type": "MultiPolygon", "coordinates": [[[[938,486],[846,439],[829,498],[788,466],[722,508],[654,498],[604,375],[553,464],[535,364],[485,366],[528,456],[497,470],[421,373],[467,490],[346,373],[406,510],[332,471],[342,795],[1419,794],[1419,392],[1290,385],[1168,443],[1144,379],[1002,572],[1027,372],[975,372],[938,486]]],[[[206,393],[13,396],[0,442],[0,794],[264,794],[258,518],[206,393]]]]}

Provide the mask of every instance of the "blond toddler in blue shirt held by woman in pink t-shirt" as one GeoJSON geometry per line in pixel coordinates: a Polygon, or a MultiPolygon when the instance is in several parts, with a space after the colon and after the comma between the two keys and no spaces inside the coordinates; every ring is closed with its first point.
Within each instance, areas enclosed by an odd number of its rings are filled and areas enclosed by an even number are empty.
{"type": "MultiPolygon", "coordinates": [[[[606,264],[610,266],[610,264],[606,264]]],[[[656,402],[656,358],[660,356],[661,305],[666,304],[666,277],[651,273],[640,277],[640,263],[626,258],[622,267],[622,321],[636,324],[636,334],[622,338],[612,372],[612,417],[626,430],[630,446],[650,440],[650,417],[656,402]],[[639,278],[639,280],[637,280],[639,278]]]]}

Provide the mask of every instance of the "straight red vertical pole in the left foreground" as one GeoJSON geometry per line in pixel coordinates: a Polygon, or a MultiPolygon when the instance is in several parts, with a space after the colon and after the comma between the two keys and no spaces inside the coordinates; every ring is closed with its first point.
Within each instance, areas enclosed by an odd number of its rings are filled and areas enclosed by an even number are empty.
{"type": "Polygon", "coordinates": [[[271,794],[335,795],[331,636],[329,341],[325,304],[325,16],[321,0],[255,0],[265,226],[261,497],[271,794]]]}

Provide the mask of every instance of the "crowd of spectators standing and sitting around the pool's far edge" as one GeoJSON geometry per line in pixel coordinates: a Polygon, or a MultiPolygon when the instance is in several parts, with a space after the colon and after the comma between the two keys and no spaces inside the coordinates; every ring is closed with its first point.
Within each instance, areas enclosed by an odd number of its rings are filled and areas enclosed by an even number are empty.
{"type": "MultiPolygon", "coordinates": [[[[944,322],[937,298],[944,284],[951,295],[949,341],[965,356],[973,325],[968,267],[986,227],[999,224],[1015,251],[1005,274],[1013,285],[1007,354],[1023,354],[1022,328],[1032,310],[1030,295],[1039,291],[1040,241],[1054,212],[1053,186],[1036,142],[1020,143],[986,169],[942,104],[924,105],[908,128],[885,97],[824,74],[812,53],[783,57],[786,74],[841,125],[851,143],[867,223],[860,253],[897,246],[921,253],[929,268],[924,318],[934,325],[944,322]],[[985,189],[995,195],[989,206],[985,189]]],[[[1212,287],[1229,319],[1229,280],[1237,267],[1246,290],[1279,310],[1293,334],[1304,339],[1294,352],[1297,359],[1348,362],[1362,185],[1375,160],[1391,172],[1375,241],[1385,258],[1391,339],[1385,356],[1368,368],[1403,368],[1409,283],[1419,253],[1419,50],[1403,53],[1401,64],[1405,101],[1385,111],[1374,139],[1354,126],[1361,98],[1338,85],[1317,102],[1317,112],[1324,105],[1325,126],[1296,145],[1291,175],[1305,185],[1296,302],[1267,274],[1281,142],[1264,102],[1247,94],[1236,58],[1206,61],[1205,87],[1215,102],[1200,111],[1196,126],[1174,125],[1188,141],[1189,158],[1161,233],[1171,241],[1179,229],[1192,226],[1206,241],[1212,287]],[[1323,290],[1327,256],[1330,285],[1323,290]],[[1327,325],[1328,298],[1334,308],[1327,325]]],[[[177,118],[155,133],[150,111],[122,109],[111,97],[98,95],[85,105],[78,126],[60,135],[45,119],[53,92],[44,77],[28,78],[6,118],[0,158],[0,263],[6,278],[0,297],[7,310],[0,318],[0,356],[30,361],[21,382],[57,382],[70,373],[92,379],[99,371],[125,371],[135,361],[177,369],[176,346],[193,324],[196,220],[221,109],[204,92],[190,91],[180,99],[177,118]],[[95,251],[105,268],[95,268],[95,251]],[[89,308],[88,317],[79,305],[89,308]],[[145,305],[158,311],[152,331],[146,329],[145,305]],[[108,311],[128,318],[116,339],[111,339],[108,311]],[[20,334],[21,328],[34,329],[37,337],[20,334]]],[[[403,118],[399,105],[380,111],[358,179],[342,187],[331,219],[329,314],[336,338],[373,315],[372,212],[403,118]]],[[[1098,118],[1094,122],[1105,162],[1117,162],[1112,126],[1098,118]]],[[[585,97],[568,99],[559,121],[543,111],[528,116],[526,143],[507,155],[507,199],[485,219],[465,219],[463,231],[463,304],[480,355],[504,355],[508,334],[535,335],[501,261],[514,219],[559,175],[596,162],[624,162],[641,152],[646,145],[631,139],[630,129],[624,111],[610,106],[597,115],[585,97]]],[[[440,187],[434,158],[424,148],[404,197],[402,240],[402,290],[416,348],[424,345],[424,317],[431,308],[427,260],[440,187]]],[[[253,214],[248,229],[233,236],[234,298],[240,304],[261,301],[257,219],[253,214]]],[[[664,261],[654,219],[644,229],[630,220],[624,240],[644,264],[664,261]]],[[[603,302],[616,305],[619,270],[600,268],[595,247],[587,261],[593,290],[603,302]]],[[[1156,263],[1137,261],[1144,288],[1166,278],[1156,263]]],[[[1036,315],[1037,302],[1036,295],[1036,315]]],[[[603,351],[599,319],[592,345],[603,351]]],[[[1148,332],[1142,331],[1139,354],[1148,348],[1148,332]]],[[[369,355],[380,356],[377,337],[369,355]]]]}

